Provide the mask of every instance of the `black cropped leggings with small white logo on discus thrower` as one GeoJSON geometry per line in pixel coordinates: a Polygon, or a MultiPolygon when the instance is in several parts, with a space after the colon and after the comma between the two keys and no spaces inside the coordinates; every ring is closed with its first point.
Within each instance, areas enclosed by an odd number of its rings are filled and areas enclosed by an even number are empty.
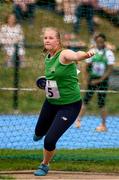
{"type": "Polygon", "coordinates": [[[74,123],[82,101],[68,105],[53,105],[45,100],[35,128],[36,136],[45,136],[44,148],[53,151],[58,139],[74,123]]]}

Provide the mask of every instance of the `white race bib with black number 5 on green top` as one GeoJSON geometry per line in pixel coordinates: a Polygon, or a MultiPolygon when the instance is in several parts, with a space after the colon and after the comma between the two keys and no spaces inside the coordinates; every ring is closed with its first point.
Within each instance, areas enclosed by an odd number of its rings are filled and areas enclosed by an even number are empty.
{"type": "Polygon", "coordinates": [[[59,99],[60,94],[57,86],[57,82],[53,80],[47,80],[46,81],[46,97],[49,99],[59,99]]]}

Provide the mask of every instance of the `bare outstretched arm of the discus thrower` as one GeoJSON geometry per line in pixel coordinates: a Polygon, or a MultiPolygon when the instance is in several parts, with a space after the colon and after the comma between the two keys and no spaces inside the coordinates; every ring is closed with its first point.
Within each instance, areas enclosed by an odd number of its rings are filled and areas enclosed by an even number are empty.
{"type": "Polygon", "coordinates": [[[88,52],[84,52],[84,51],[78,51],[78,52],[74,52],[72,50],[63,50],[61,52],[61,56],[60,59],[61,61],[64,62],[69,62],[69,61],[81,61],[87,58],[90,58],[94,55],[94,51],[88,51],[88,52]]]}

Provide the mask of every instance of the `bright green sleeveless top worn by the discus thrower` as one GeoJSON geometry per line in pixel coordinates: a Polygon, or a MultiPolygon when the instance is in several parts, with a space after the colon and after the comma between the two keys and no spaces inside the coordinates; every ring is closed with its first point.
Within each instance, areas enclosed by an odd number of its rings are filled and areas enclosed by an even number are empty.
{"type": "Polygon", "coordinates": [[[76,64],[61,64],[60,52],[45,58],[46,97],[51,104],[69,104],[81,99],[76,64]]]}

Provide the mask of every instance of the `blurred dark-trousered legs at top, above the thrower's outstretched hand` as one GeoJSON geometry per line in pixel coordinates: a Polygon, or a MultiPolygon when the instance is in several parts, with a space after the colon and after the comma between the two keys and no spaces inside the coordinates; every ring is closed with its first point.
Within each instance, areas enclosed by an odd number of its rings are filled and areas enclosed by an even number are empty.
{"type": "Polygon", "coordinates": [[[94,10],[98,7],[98,0],[79,0],[79,5],[75,9],[76,22],[74,23],[74,33],[80,32],[81,18],[85,17],[88,23],[89,33],[94,33],[94,10]]]}

